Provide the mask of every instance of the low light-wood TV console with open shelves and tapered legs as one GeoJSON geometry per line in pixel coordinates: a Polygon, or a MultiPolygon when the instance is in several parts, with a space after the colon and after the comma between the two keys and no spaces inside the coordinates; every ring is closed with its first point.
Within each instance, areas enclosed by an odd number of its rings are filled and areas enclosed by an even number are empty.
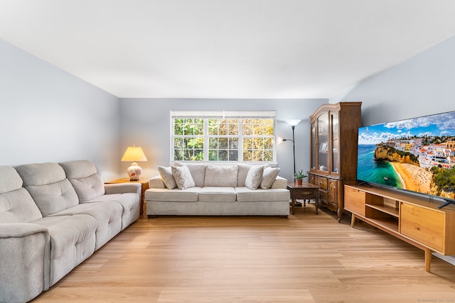
{"type": "Polygon", "coordinates": [[[432,252],[455,255],[455,206],[438,209],[429,198],[382,187],[345,185],[344,191],[352,227],[357,218],[424,250],[427,272],[432,252]]]}

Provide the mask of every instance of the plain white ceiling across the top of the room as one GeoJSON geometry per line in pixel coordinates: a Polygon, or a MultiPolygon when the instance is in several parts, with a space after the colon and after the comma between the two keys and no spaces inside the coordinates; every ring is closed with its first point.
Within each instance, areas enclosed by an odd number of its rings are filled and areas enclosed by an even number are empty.
{"type": "Polygon", "coordinates": [[[454,0],[0,0],[0,38],[117,97],[328,98],[451,35],[454,0]]]}

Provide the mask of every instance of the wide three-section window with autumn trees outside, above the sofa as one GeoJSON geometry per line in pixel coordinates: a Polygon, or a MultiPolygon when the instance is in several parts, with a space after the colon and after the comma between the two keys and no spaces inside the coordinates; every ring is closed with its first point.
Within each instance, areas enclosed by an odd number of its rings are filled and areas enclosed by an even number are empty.
{"type": "Polygon", "coordinates": [[[275,162],[275,123],[275,111],[171,111],[171,159],[275,162]]]}

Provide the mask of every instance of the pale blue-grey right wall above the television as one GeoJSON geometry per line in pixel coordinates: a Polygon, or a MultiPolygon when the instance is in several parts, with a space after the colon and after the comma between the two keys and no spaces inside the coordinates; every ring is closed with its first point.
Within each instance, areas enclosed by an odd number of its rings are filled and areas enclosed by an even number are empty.
{"type": "Polygon", "coordinates": [[[455,36],[331,97],[362,101],[363,126],[455,110],[455,36]]]}

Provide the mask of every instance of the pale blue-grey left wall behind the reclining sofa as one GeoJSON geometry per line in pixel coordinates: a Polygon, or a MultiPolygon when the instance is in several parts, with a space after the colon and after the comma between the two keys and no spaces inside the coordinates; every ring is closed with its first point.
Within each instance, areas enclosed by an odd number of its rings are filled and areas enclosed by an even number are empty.
{"type": "Polygon", "coordinates": [[[119,175],[119,99],[0,39],[0,165],[94,161],[119,175]]]}

